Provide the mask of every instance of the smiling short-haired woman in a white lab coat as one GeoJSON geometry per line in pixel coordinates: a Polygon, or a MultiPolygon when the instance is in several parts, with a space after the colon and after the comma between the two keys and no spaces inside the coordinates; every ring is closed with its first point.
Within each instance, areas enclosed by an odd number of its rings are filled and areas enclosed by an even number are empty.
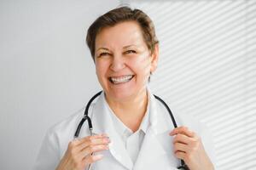
{"type": "Polygon", "coordinates": [[[99,17],[86,37],[103,92],[90,105],[96,135],[79,111],[50,128],[37,170],[172,170],[183,159],[190,170],[212,170],[213,146],[206,128],[177,113],[174,128],[164,105],[147,88],[158,64],[159,43],[147,14],[128,7],[99,17]],[[201,136],[201,137],[200,137],[201,136]],[[93,154],[92,154],[93,153],[93,154]]]}

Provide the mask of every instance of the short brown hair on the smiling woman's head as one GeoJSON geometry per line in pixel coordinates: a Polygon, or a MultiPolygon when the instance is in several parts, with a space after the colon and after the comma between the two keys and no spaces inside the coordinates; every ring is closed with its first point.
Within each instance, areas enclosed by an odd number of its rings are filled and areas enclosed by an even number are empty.
{"type": "Polygon", "coordinates": [[[142,28],[143,38],[146,42],[148,49],[154,52],[155,44],[158,43],[157,37],[154,31],[154,24],[152,20],[140,9],[131,9],[129,7],[114,8],[108,13],[103,14],[97,18],[89,27],[86,36],[86,42],[90,48],[90,54],[92,59],[95,55],[96,36],[102,31],[103,28],[109,26],[115,26],[124,21],[137,21],[137,24],[142,28]]]}

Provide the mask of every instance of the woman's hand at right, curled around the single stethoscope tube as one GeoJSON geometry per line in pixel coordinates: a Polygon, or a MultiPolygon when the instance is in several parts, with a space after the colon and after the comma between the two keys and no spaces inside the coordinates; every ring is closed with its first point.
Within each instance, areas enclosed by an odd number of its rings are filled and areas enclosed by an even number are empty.
{"type": "Polygon", "coordinates": [[[183,159],[190,170],[213,170],[211,160],[207,156],[201,138],[188,127],[177,127],[170,133],[174,136],[174,154],[183,159]]]}

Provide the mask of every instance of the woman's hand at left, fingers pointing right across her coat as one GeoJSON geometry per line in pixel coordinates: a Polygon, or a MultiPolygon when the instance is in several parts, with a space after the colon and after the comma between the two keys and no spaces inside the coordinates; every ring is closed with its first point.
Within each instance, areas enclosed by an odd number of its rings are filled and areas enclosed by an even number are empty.
{"type": "Polygon", "coordinates": [[[92,155],[92,153],[108,150],[109,143],[106,134],[74,139],[68,144],[66,153],[56,170],[84,170],[90,163],[102,159],[102,155],[92,155]]]}

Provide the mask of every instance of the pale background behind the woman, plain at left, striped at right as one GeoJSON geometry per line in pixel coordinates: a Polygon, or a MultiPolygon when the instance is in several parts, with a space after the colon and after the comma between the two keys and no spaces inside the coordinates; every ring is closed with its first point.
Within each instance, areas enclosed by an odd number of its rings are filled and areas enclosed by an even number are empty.
{"type": "Polygon", "coordinates": [[[154,21],[154,94],[207,124],[217,170],[255,169],[255,0],[0,0],[0,169],[32,169],[46,130],[101,89],[85,35],[119,4],[154,21]]]}

